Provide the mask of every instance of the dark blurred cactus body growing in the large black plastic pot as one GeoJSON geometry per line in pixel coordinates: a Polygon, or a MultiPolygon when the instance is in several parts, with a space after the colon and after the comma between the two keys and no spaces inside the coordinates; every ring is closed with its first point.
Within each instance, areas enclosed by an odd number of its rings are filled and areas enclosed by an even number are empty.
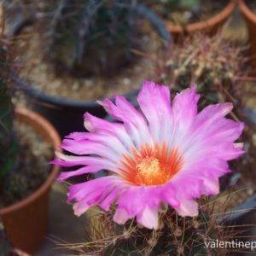
{"type": "Polygon", "coordinates": [[[136,29],[131,1],[63,0],[47,5],[51,20],[46,56],[69,71],[110,74],[131,59],[136,29]]]}

